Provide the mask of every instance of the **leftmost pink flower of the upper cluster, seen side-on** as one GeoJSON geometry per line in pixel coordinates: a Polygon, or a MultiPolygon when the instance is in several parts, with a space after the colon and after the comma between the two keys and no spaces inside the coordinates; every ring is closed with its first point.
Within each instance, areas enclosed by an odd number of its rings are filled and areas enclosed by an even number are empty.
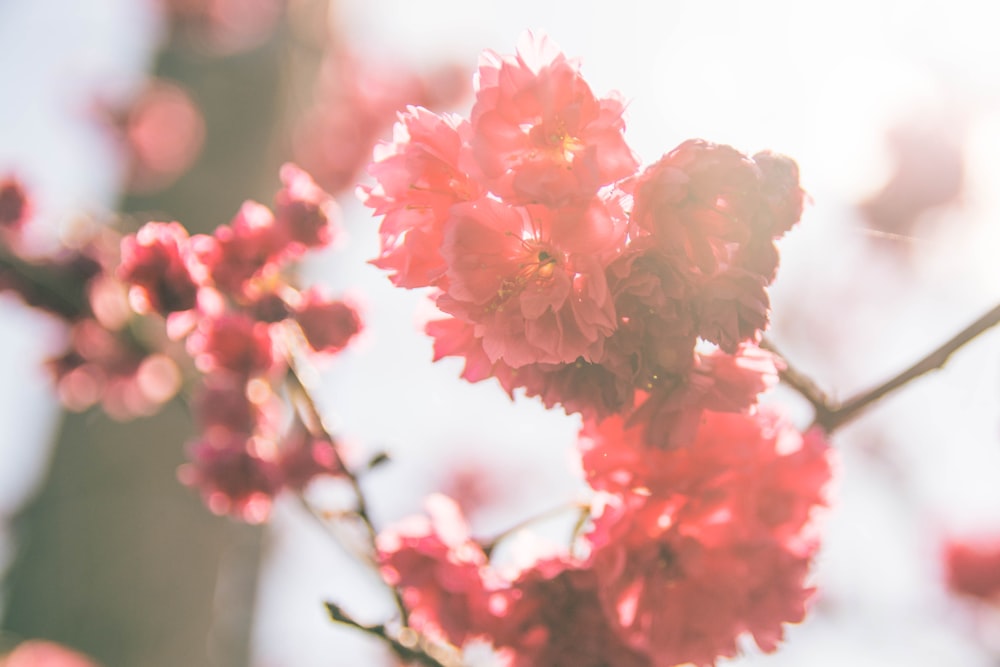
{"type": "Polygon", "coordinates": [[[477,199],[482,187],[459,167],[468,123],[408,107],[399,116],[392,144],[382,146],[369,168],[373,186],[359,196],[375,215],[381,252],[375,266],[390,271],[400,287],[435,285],[444,274],[440,246],[453,204],[477,199]]]}

